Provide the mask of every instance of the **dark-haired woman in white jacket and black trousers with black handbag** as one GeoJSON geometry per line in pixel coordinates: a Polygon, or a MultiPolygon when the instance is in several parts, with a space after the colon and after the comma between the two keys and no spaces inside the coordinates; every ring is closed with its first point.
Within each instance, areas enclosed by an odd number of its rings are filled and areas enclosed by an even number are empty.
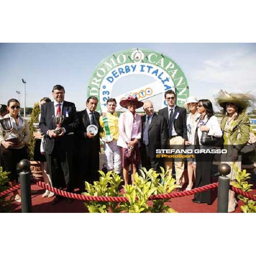
{"type": "MultiPolygon", "coordinates": [[[[221,127],[216,116],[214,116],[212,102],[209,99],[201,99],[198,101],[198,113],[201,114],[198,118],[197,128],[195,131],[195,148],[203,149],[205,146],[201,144],[202,132],[207,131],[208,135],[220,138],[222,137],[221,127]]],[[[207,149],[215,148],[215,146],[207,146],[207,149]]],[[[205,186],[211,183],[212,163],[215,154],[201,153],[195,154],[196,160],[196,179],[195,187],[205,186]]],[[[194,203],[212,204],[211,190],[195,194],[194,203]]]]}

